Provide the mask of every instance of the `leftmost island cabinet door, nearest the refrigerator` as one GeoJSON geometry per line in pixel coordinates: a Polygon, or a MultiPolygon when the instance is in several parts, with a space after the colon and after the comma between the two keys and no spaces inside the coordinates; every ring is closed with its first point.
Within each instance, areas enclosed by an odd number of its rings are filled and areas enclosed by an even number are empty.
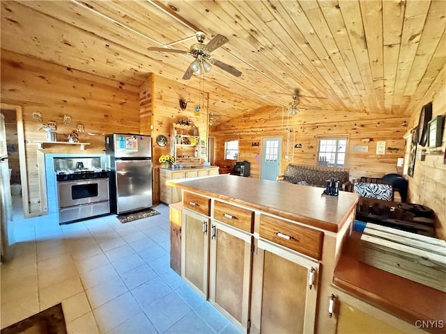
{"type": "Polygon", "coordinates": [[[208,298],[210,219],[188,209],[181,218],[181,276],[204,299],[208,298]]]}

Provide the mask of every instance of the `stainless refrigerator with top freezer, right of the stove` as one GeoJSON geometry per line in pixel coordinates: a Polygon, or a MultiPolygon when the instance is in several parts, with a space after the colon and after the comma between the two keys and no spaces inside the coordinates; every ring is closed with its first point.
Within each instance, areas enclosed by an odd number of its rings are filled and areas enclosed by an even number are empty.
{"type": "Polygon", "coordinates": [[[110,175],[110,210],[116,214],[149,208],[152,201],[152,138],[109,134],[105,151],[110,175]]]}

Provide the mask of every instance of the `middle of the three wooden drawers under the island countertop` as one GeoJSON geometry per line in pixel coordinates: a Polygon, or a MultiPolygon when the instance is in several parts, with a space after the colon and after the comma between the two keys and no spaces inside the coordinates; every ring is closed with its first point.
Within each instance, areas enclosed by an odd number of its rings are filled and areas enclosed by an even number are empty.
{"type": "Polygon", "coordinates": [[[218,200],[214,202],[214,218],[249,233],[254,229],[254,211],[218,200]]]}

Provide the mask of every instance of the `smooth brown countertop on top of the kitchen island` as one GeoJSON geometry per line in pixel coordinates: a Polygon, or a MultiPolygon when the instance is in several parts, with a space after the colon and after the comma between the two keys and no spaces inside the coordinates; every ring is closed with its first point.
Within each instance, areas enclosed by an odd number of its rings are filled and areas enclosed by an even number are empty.
{"type": "Polygon", "coordinates": [[[339,191],[339,196],[327,196],[322,195],[323,188],[314,186],[226,174],[171,180],[167,184],[330,232],[340,230],[359,199],[356,193],[339,191]]]}

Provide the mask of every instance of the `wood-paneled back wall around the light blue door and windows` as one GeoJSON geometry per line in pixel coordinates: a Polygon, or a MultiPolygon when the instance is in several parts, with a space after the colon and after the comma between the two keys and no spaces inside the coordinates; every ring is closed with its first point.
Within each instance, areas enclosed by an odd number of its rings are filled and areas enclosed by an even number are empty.
{"type": "Polygon", "coordinates": [[[210,136],[216,138],[216,164],[230,165],[224,160],[224,141],[239,140],[239,161],[251,163],[251,176],[260,177],[261,143],[267,136],[282,136],[282,172],[290,163],[316,165],[319,136],[346,136],[348,152],[346,167],[350,179],[362,176],[382,177],[387,173],[402,173],[397,159],[404,156],[407,131],[405,118],[382,114],[363,114],[320,110],[303,110],[288,117],[282,108],[263,107],[241,118],[210,127],[210,136]],[[362,139],[370,138],[369,142],[362,139]],[[289,141],[288,141],[289,140],[289,141]],[[376,154],[376,142],[385,141],[384,155],[376,154]],[[259,142],[259,146],[252,143],[259,142]],[[294,148],[298,143],[302,148],[294,148]],[[354,152],[355,145],[367,145],[368,152],[354,152]],[[286,156],[289,156],[286,159],[286,156]]]}

